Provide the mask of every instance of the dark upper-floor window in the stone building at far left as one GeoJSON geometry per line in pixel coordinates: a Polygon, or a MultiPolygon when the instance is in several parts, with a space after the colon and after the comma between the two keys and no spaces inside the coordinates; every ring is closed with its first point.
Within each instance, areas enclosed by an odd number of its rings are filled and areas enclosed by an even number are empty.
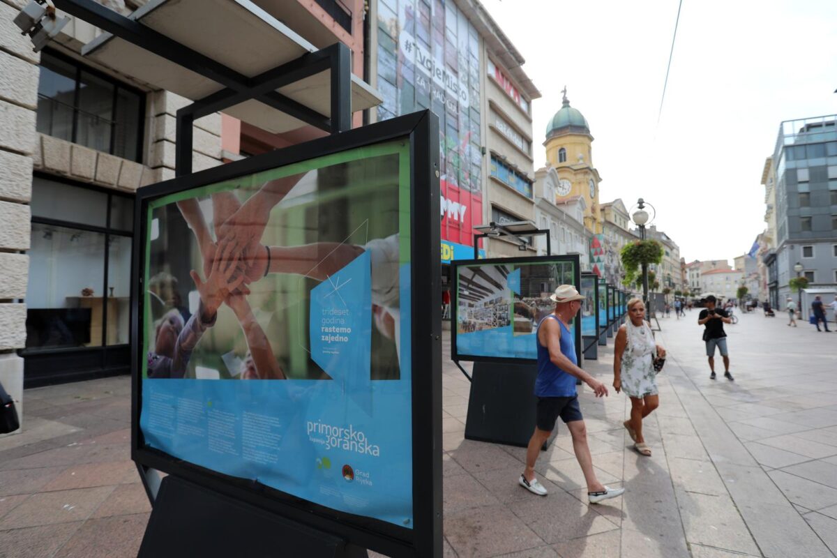
{"type": "Polygon", "coordinates": [[[36,130],[131,161],[141,160],[145,95],[73,59],[44,51],[36,130]]]}

